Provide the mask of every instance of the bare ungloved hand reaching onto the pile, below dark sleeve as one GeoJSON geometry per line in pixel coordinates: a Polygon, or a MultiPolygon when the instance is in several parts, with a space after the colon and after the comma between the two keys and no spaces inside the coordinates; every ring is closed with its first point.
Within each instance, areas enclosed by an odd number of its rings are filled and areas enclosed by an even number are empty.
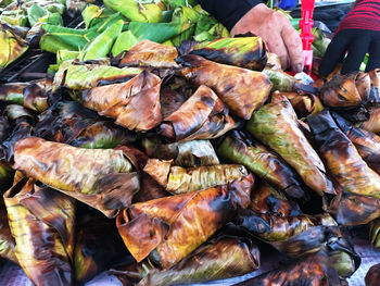
{"type": "Polygon", "coordinates": [[[280,58],[283,70],[291,66],[296,73],[303,71],[301,38],[284,15],[257,4],[233,26],[231,36],[249,32],[263,38],[268,50],[280,58]]]}

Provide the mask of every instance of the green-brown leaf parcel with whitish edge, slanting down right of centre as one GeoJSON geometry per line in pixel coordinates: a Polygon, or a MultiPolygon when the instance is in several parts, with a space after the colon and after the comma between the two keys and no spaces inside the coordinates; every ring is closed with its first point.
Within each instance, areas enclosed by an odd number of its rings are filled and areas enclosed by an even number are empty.
{"type": "Polygon", "coordinates": [[[254,112],[248,130],[280,154],[318,195],[334,194],[324,163],[300,129],[288,100],[266,104],[254,112]]]}

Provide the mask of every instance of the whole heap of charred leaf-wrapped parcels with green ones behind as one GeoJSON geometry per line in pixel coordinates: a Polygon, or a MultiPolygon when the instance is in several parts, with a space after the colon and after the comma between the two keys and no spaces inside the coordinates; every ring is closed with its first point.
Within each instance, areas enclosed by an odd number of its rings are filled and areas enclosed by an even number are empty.
{"type": "Polygon", "coordinates": [[[270,248],[290,262],[242,285],[346,285],[346,227],[380,249],[380,71],[305,85],[188,1],[131,2],[87,5],[86,29],[15,13],[58,62],[0,85],[0,257],[35,285],[159,286],[259,271],[270,248]]]}

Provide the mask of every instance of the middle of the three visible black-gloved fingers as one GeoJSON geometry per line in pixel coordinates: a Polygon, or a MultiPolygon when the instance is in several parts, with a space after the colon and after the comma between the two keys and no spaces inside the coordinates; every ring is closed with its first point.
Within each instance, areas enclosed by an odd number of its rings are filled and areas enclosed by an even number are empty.
{"type": "Polygon", "coordinates": [[[344,59],[341,74],[358,71],[369,48],[369,40],[357,37],[349,45],[347,57],[344,59]]]}

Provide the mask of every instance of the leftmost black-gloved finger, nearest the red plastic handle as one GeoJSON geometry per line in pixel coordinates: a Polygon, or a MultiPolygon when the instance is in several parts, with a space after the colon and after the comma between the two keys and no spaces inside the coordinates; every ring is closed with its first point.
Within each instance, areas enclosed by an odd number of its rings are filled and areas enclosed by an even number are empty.
{"type": "Polygon", "coordinates": [[[343,61],[346,47],[350,41],[351,37],[346,35],[346,30],[341,30],[333,37],[322,60],[320,61],[319,74],[321,76],[329,75],[335,65],[343,61]]]}

